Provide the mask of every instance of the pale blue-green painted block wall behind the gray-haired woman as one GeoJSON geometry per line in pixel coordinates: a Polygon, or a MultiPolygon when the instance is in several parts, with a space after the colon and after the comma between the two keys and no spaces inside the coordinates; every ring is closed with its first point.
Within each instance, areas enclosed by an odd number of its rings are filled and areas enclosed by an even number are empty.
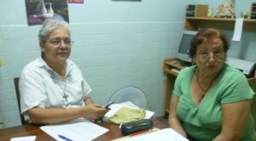
{"type": "MultiPolygon", "coordinates": [[[[186,2],[85,0],[68,5],[75,42],[71,59],[92,87],[96,103],[107,103],[121,87],[135,86],[146,94],[148,110],[164,114],[162,65],[175,56],[186,2]]],[[[20,125],[13,78],[39,56],[41,26],[27,26],[24,0],[1,1],[0,13],[0,109],[4,127],[13,127],[20,125]]]]}

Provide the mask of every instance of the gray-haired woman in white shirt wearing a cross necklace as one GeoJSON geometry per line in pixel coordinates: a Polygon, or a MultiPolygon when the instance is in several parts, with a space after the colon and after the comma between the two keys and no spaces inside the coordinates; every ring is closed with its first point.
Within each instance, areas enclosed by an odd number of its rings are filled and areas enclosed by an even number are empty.
{"type": "Polygon", "coordinates": [[[45,20],[38,38],[41,57],[27,64],[20,75],[21,113],[40,124],[103,116],[108,109],[93,103],[90,86],[68,59],[73,41],[67,22],[45,20]]]}

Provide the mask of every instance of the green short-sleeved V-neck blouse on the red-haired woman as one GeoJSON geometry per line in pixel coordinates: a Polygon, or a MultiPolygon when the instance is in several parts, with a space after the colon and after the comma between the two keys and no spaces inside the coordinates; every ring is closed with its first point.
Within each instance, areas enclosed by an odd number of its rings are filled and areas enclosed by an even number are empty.
{"type": "MultiPolygon", "coordinates": [[[[179,98],[177,116],[183,121],[183,127],[191,137],[200,141],[209,141],[218,136],[221,131],[221,104],[253,99],[255,93],[249,87],[247,79],[241,71],[225,64],[218,77],[218,82],[215,82],[197,106],[190,92],[195,68],[195,65],[184,68],[177,76],[173,90],[173,95],[179,98]]],[[[256,140],[251,113],[247,117],[246,128],[241,140],[256,140]]]]}

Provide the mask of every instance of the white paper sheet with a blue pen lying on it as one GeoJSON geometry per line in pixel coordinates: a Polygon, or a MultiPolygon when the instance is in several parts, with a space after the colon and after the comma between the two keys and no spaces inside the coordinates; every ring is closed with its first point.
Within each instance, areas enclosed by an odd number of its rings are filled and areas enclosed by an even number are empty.
{"type": "Polygon", "coordinates": [[[40,128],[56,140],[63,141],[65,139],[60,138],[59,135],[70,138],[73,141],[89,141],[108,132],[107,128],[100,127],[82,118],[64,124],[47,125],[40,128]]]}

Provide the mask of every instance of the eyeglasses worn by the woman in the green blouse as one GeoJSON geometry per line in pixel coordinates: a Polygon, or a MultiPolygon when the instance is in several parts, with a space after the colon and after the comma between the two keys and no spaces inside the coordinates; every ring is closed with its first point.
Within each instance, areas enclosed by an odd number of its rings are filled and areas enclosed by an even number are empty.
{"type": "Polygon", "coordinates": [[[210,59],[211,54],[212,54],[212,57],[217,61],[224,60],[224,51],[220,51],[220,50],[213,51],[213,52],[201,50],[197,54],[199,55],[199,58],[202,61],[207,61],[208,59],[210,59]]]}

